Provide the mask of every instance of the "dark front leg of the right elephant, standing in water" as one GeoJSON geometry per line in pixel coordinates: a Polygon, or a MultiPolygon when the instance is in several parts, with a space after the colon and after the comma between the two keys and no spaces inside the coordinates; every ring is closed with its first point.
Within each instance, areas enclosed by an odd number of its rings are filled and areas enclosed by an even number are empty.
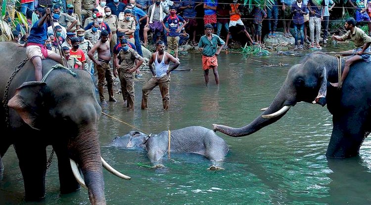
{"type": "Polygon", "coordinates": [[[364,125],[366,115],[367,112],[362,110],[333,116],[333,128],[326,157],[346,158],[358,155],[366,133],[364,125]]]}

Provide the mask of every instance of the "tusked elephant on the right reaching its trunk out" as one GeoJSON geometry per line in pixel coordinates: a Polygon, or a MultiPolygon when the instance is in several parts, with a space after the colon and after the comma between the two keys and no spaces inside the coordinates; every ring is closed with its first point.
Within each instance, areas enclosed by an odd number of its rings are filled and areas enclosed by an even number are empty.
{"type": "MultiPolygon", "coordinates": [[[[288,71],[287,78],[272,104],[253,122],[232,128],[214,124],[215,131],[233,137],[252,134],[275,123],[297,102],[318,103],[332,114],[332,133],[326,156],[356,156],[363,140],[371,132],[371,64],[357,62],[350,68],[341,89],[329,82],[338,82],[338,68],[345,61],[321,53],[307,56],[288,71]]],[[[341,75],[340,75],[341,76],[341,75]]]]}

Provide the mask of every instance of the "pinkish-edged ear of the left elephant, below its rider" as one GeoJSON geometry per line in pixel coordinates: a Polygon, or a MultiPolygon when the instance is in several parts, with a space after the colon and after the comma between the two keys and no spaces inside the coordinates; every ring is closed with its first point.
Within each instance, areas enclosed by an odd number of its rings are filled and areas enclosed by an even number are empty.
{"type": "Polygon", "coordinates": [[[34,129],[41,129],[41,110],[45,82],[24,82],[9,100],[9,108],[17,111],[22,120],[34,129]]]}

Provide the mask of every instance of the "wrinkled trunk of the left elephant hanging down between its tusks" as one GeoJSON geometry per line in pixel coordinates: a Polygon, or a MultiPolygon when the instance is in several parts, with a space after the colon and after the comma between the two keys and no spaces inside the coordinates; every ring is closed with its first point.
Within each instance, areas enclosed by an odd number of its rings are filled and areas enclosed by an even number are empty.
{"type": "Polygon", "coordinates": [[[79,164],[84,175],[91,204],[105,205],[102,161],[96,126],[81,126],[78,136],[70,146],[76,151],[72,158],[79,164]]]}

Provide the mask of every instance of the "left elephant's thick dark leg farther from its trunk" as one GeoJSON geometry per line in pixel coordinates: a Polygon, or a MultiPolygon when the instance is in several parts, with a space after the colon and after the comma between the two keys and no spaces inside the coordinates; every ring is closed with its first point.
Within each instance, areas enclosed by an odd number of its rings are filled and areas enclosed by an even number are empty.
{"type": "Polygon", "coordinates": [[[15,152],[23,175],[26,201],[41,201],[45,198],[46,146],[16,143],[15,152]]]}

